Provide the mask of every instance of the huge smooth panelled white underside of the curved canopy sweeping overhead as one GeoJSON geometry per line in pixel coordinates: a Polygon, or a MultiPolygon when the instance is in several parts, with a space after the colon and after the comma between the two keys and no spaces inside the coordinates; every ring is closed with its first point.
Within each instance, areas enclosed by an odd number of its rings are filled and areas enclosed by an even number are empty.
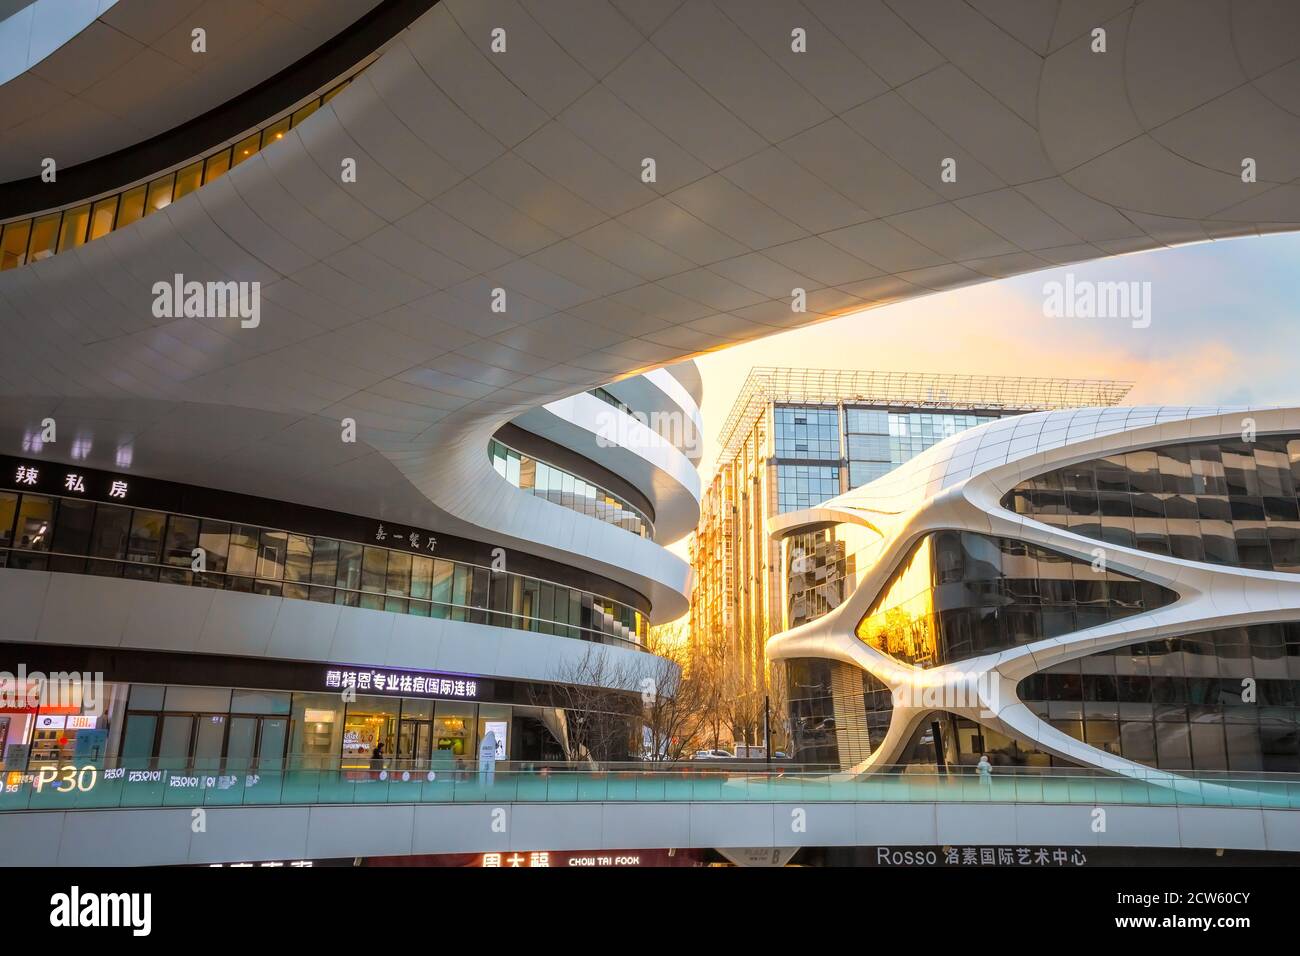
{"type": "Polygon", "coordinates": [[[1296,7],[1197,4],[1214,16],[1166,0],[443,0],[229,176],[0,274],[0,446],[21,451],[56,415],[92,464],[127,449],[160,477],[424,522],[680,606],[676,558],[516,507],[491,432],[846,311],[1295,229],[1300,49],[1279,38],[1300,35],[1296,7]],[[1084,55],[1098,10],[1109,52],[1084,55]],[[790,52],[798,26],[807,53],[790,52]],[[506,53],[489,51],[497,27],[506,53]],[[1254,94],[1271,107],[1225,116],[1225,98],[1254,94]],[[1232,172],[1236,152],[1258,182],[1232,172]],[[260,326],[155,319],[152,284],[178,272],[261,281],[260,326]],[[341,444],[344,416],[359,445],[341,444]]]}

